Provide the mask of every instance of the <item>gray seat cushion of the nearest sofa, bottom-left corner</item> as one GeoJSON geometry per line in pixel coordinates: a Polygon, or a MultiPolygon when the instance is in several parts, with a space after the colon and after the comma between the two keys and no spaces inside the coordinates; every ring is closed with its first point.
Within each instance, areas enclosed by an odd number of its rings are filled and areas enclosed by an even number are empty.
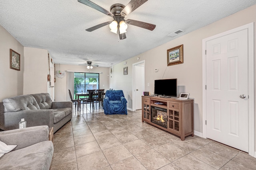
{"type": "Polygon", "coordinates": [[[0,159],[0,165],[1,169],[4,170],[49,170],[52,155],[52,141],[43,141],[26,148],[4,154],[0,159]]]}

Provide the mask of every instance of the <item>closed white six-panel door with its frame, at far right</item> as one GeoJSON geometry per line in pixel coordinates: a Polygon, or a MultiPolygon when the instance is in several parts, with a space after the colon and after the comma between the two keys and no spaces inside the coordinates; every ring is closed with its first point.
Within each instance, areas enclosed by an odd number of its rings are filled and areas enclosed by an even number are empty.
{"type": "Polygon", "coordinates": [[[202,55],[203,137],[250,155],[254,155],[253,30],[251,23],[204,39],[202,55]]]}

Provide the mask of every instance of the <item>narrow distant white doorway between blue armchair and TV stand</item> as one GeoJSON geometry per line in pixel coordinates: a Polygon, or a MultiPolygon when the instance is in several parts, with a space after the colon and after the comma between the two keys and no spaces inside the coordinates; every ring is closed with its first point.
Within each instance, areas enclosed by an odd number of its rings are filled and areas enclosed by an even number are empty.
{"type": "Polygon", "coordinates": [[[141,96],[145,90],[145,60],[132,64],[132,110],[142,109],[141,96]]]}

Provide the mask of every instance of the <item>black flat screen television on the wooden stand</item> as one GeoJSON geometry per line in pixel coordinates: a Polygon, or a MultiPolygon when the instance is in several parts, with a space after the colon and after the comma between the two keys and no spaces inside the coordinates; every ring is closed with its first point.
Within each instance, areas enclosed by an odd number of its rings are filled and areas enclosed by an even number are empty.
{"type": "Polygon", "coordinates": [[[155,80],[154,94],[177,97],[177,78],[155,80]]]}

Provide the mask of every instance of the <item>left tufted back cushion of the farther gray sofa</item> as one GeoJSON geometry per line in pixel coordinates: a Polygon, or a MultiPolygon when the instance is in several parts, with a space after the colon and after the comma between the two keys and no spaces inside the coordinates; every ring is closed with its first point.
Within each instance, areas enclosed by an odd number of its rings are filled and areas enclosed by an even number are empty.
{"type": "Polygon", "coordinates": [[[32,95],[10,97],[3,100],[4,112],[16,112],[20,110],[38,110],[36,99],[32,95]]]}

